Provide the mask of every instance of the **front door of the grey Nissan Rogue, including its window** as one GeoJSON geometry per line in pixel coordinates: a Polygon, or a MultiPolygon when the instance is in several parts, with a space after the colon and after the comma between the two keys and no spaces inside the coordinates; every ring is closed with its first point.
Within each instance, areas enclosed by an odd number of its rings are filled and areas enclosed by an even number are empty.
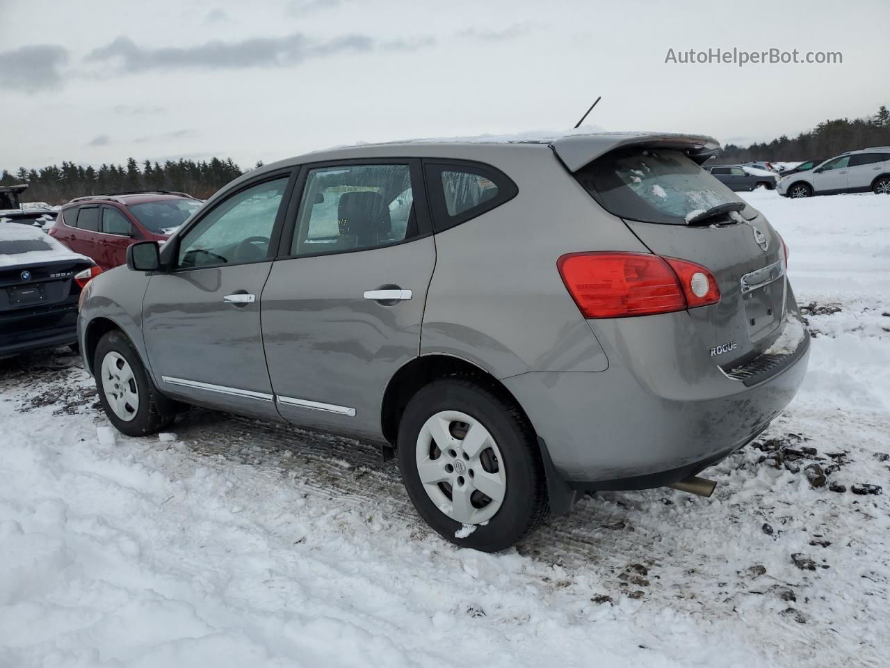
{"type": "Polygon", "coordinates": [[[260,295],[271,269],[289,171],[249,184],[178,236],[175,266],[142,304],[152,374],[190,403],[278,417],[263,355],[260,295]]]}

